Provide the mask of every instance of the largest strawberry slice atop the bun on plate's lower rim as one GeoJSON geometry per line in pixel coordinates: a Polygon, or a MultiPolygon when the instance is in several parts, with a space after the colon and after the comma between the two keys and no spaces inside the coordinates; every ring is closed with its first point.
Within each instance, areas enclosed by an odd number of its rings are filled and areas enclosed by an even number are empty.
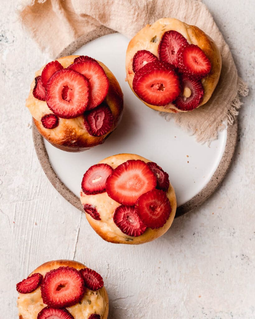
{"type": "Polygon", "coordinates": [[[106,192],[116,202],[133,206],[143,193],[154,189],[157,180],[142,160],[130,159],[120,164],[106,180],[106,192]]]}

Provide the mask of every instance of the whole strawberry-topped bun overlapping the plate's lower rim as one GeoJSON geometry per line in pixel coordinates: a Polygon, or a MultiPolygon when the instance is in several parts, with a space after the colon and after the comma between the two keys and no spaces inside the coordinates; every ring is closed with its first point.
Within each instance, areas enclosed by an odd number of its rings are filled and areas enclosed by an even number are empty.
{"type": "Polygon", "coordinates": [[[142,244],[171,226],[176,197],[168,174],[135,154],[118,154],[91,166],[82,180],[81,203],[104,240],[142,244]]]}

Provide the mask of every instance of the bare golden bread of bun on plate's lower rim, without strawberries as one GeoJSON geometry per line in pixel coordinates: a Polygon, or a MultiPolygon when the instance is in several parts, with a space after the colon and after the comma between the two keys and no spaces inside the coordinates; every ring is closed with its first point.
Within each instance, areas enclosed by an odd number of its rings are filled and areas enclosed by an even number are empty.
{"type": "MultiPolygon", "coordinates": [[[[140,159],[145,163],[150,162],[150,160],[145,159],[142,156],[124,153],[107,157],[106,159],[101,160],[99,163],[108,164],[114,169],[129,159],[140,159]]],[[[110,198],[106,192],[97,195],[86,195],[83,191],[81,191],[81,203],[83,205],[91,204],[92,206],[97,207],[97,211],[101,220],[93,219],[87,213],[86,218],[95,232],[97,232],[97,234],[104,240],[117,244],[143,244],[162,236],[170,228],[173,222],[177,203],[175,192],[171,184],[166,192],[166,196],[171,204],[171,214],[164,226],[157,229],[147,228],[146,231],[138,237],[131,237],[122,233],[120,228],[115,225],[113,221],[113,213],[115,209],[120,206],[120,204],[110,198]]]]}

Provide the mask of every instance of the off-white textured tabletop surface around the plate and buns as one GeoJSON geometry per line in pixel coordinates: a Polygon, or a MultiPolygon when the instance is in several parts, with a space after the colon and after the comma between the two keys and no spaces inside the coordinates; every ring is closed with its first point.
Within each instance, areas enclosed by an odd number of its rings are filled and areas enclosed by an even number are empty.
{"type": "MultiPolygon", "coordinates": [[[[204,3],[251,90],[253,1],[204,3]]],[[[254,93],[243,99],[237,152],[220,189],[152,243],[106,243],[40,167],[24,103],[34,71],[49,57],[21,29],[16,1],[0,5],[1,318],[17,318],[15,284],[41,263],[60,258],[101,273],[110,298],[109,319],[255,318],[254,93]]]]}

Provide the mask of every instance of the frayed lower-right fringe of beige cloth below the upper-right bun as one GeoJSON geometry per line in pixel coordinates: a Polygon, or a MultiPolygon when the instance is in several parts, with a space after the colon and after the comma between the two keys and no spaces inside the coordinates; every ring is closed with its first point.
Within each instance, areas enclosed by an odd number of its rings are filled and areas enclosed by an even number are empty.
{"type": "MultiPolygon", "coordinates": [[[[182,129],[186,130],[186,132],[189,134],[189,136],[196,135],[196,141],[200,144],[210,145],[212,141],[218,138],[218,133],[224,130],[229,124],[232,125],[237,115],[239,114],[239,108],[244,104],[240,100],[240,96],[247,96],[249,94],[249,88],[247,84],[238,77],[237,82],[238,88],[237,88],[237,94],[234,97],[234,99],[230,103],[230,107],[228,109],[227,114],[223,117],[222,121],[216,126],[215,132],[213,134],[209,134],[208,131],[201,132],[200,130],[195,129],[194,127],[191,127],[191,125],[185,124],[183,125],[178,119],[175,119],[175,124],[180,126],[182,129]]],[[[171,118],[174,117],[173,113],[166,113],[166,112],[159,112],[160,116],[163,116],[164,119],[169,122],[171,118]]]]}

